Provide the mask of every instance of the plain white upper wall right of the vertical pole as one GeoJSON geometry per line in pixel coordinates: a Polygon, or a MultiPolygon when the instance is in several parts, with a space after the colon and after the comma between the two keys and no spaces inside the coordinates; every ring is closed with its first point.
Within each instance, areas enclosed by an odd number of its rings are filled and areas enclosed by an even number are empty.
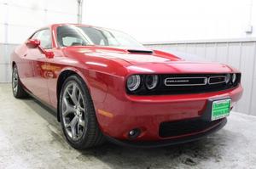
{"type": "Polygon", "coordinates": [[[83,14],[85,24],[125,31],[139,42],[256,37],[255,0],[84,0],[83,14]]]}

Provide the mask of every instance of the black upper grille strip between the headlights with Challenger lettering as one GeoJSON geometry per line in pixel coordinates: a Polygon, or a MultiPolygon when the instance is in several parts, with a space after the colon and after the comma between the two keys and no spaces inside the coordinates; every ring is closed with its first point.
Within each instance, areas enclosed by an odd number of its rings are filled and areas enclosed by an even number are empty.
{"type": "MultiPolygon", "coordinates": [[[[158,75],[157,87],[148,90],[145,84],[135,92],[127,91],[134,95],[169,95],[182,93],[207,93],[222,91],[237,87],[241,81],[241,74],[236,74],[236,82],[232,82],[232,74],[177,74],[158,75]]],[[[142,77],[145,78],[144,75],[142,77]]]]}

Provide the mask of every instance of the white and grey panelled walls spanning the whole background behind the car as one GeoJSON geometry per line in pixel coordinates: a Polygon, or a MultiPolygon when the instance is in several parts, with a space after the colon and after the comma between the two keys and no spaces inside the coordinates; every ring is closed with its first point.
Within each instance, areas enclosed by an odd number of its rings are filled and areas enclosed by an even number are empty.
{"type": "MultiPolygon", "coordinates": [[[[84,24],[125,31],[140,42],[158,42],[148,44],[152,48],[197,54],[240,69],[245,91],[236,110],[256,115],[253,0],[84,0],[83,11],[84,24]],[[245,32],[247,25],[253,25],[252,34],[245,32]],[[198,40],[218,38],[239,39],[198,40]]],[[[16,44],[44,25],[77,22],[77,12],[76,0],[0,0],[0,82],[10,82],[9,54],[16,44]]]]}

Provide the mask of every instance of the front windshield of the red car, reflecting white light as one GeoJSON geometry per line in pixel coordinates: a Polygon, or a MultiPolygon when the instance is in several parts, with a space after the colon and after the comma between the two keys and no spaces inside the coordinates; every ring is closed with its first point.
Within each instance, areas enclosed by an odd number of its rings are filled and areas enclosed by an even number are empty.
{"type": "Polygon", "coordinates": [[[99,45],[144,48],[141,43],[123,32],[88,26],[59,26],[57,41],[61,47],[99,45]]]}

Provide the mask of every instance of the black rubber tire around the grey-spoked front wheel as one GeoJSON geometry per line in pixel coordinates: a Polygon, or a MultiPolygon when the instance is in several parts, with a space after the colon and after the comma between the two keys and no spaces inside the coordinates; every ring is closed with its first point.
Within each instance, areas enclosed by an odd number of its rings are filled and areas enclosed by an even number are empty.
{"type": "MultiPolygon", "coordinates": [[[[61,127],[62,127],[65,137],[67,138],[68,144],[70,144],[74,149],[88,149],[90,147],[94,147],[94,146],[103,144],[105,141],[105,138],[98,126],[94,105],[93,105],[92,99],[90,98],[90,93],[89,93],[88,87],[86,87],[86,84],[84,83],[83,79],[80,76],[76,76],[76,75],[69,76],[61,88],[61,96],[59,98],[60,98],[60,100],[59,100],[59,110],[60,110],[59,115],[60,115],[60,120],[61,120],[61,127]],[[65,114],[63,115],[63,113],[65,111],[67,111],[67,109],[63,110],[64,108],[62,106],[66,107],[65,103],[67,103],[67,99],[72,100],[70,93],[66,92],[69,90],[68,87],[70,87],[71,85],[76,85],[76,87],[78,87],[79,93],[81,93],[82,97],[83,97],[82,103],[84,103],[84,108],[81,108],[81,109],[84,109],[84,112],[83,111],[80,112],[80,114],[84,115],[84,117],[83,117],[83,115],[81,115],[81,118],[83,118],[83,120],[85,121],[84,122],[84,131],[82,131],[82,132],[80,131],[80,130],[83,130],[83,127],[79,127],[80,120],[77,121],[77,123],[76,123],[77,125],[73,125],[73,126],[75,126],[73,128],[77,128],[77,129],[75,129],[75,130],[77,130],[77,132],[74,135],[76,135],[76,136],[80,135],[80,138],[78,138],[78,140],[74,140],[73,136],[70,136],[69,129],[67,129],[67,127],[65,127],[65,124],[67,121],[69,121],[68,125],[71,127],[70,124],[72,123],[73,119],[67,120],[68,119],[67,116],[68,115],[72,116],[73,113],[67,113],[65,118],[63,118],[63,116],[65,115],[65,114]],[[68,95],[66,95],[67,93],[70,96],[70,98],[68,98],[68,95]],[[66,100],[64,101],[63,98],[66,100]]],[[[80,100],[80,99],[78,99],[78,100],[80,100]]],[[[71,102],[74,103],[73,101],[70,101],[70,103],[71,102]]],[[[80,105],[80,102],[81,101],[78,101],[77,103],[79,103],[79,105],[80,105]]],[[[71,104],[69,104],[69,105],[71,105],[71,104]]],[[[83,107],[83,106],[81,106],[81,107],[83,107]]],[[[73,108],[73,109],[75,109],[75,108],[73,108]]],[[[77,112],[77,111],[75,111],[75,112],[77,112]]],[[[74,116],[76,116],[76,115],[78,115],[78,112],[77,112],[77,114],[74,113],[74,116]]],[[[66,124],[66,126],[68,126],[68,125],[66,124]]]]}

